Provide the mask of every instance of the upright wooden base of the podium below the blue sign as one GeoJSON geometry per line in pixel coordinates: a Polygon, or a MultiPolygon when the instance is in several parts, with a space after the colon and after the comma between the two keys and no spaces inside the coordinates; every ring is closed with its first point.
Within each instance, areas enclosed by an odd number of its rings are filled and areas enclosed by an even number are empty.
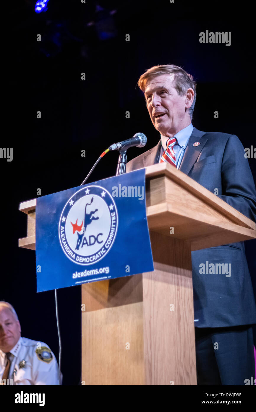
{"type": "Polygon", "coordinates": [[[191,245],[150,239],[154,272],[82,285],[85,385],[196,385],[191,245]]]}

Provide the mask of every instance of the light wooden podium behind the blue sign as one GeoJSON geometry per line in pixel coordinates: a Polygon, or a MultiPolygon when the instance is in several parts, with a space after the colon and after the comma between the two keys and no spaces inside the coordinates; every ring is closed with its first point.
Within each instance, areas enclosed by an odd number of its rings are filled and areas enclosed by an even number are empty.
{"type": "MultiPolygon", "coordinates": [[[[146,205],[154,272],[82,285],[85,385],[196,385],[191,250],[256,238],[252,220],[168,163],[146,168],[146,205]]],[[[35,207],[19,206],[19,246],[33,250],[35,207]]]]}

